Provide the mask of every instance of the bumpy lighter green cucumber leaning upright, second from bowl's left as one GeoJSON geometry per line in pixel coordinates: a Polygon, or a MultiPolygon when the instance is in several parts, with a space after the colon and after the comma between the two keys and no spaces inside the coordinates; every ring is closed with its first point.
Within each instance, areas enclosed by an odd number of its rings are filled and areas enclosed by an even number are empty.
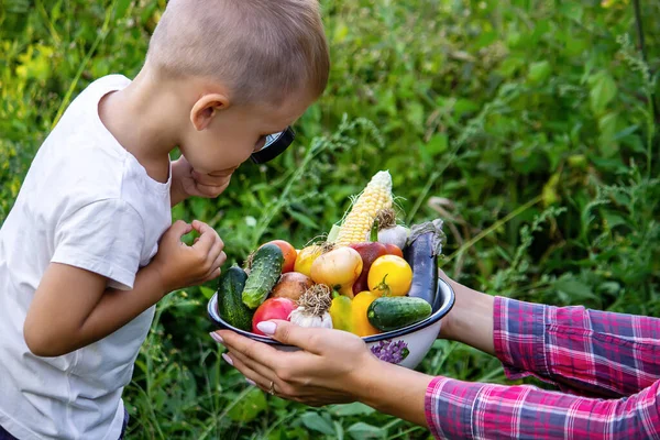
{"type": "Polygon", "coordinates": [[[243,304],[251,309],[262,305],[282,275],[284,254],[273,243],[264,244],[252,257],[252,267],[243,289],[243,304]]]}

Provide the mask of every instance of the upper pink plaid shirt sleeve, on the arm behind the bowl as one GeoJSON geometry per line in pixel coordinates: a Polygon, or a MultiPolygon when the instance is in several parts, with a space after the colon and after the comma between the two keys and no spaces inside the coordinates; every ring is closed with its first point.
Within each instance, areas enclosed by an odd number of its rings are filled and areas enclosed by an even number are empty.
{"type": "Polygon", "coordinates": [[[660,380],[660,319],[495,297],[494,343],[509,378],[534,375],[592,397],[660,380]]]}

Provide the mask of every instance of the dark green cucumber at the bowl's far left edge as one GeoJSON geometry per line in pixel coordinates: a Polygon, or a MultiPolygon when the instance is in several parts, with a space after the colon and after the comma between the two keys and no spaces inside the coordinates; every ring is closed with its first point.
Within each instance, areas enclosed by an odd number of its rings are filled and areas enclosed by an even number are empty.
{"type": "Polygon", "coordinates": [[[237,329],[251,331],[254,312],[242,300],[246,279],[245,271],[237,265],[222,271],[218,279],[218,314],[237,329]]]}

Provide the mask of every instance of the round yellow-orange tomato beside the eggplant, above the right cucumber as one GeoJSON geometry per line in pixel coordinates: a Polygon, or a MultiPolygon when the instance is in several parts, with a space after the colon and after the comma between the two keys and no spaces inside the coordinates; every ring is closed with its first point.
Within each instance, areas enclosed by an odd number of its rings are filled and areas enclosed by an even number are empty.
{"type": "Polygon", "coordinates": [[[378,296],[404,296],[413,284],[413,268],[397,255],[376,258],[369,270],[369,289],[378,296]]]}

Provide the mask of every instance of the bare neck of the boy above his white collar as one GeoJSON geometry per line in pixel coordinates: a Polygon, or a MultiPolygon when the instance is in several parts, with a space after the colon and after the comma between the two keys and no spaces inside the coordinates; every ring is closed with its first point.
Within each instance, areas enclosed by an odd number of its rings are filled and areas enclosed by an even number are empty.
{"type": "Polygon", "coordinates": [[[156,182],[169,178],[169,152],[178,144],[180,121],[175,94],[163,89],[147,68],[127,88],[106,95],[99,102],[99,117],[117,141],[156,182]]]}

